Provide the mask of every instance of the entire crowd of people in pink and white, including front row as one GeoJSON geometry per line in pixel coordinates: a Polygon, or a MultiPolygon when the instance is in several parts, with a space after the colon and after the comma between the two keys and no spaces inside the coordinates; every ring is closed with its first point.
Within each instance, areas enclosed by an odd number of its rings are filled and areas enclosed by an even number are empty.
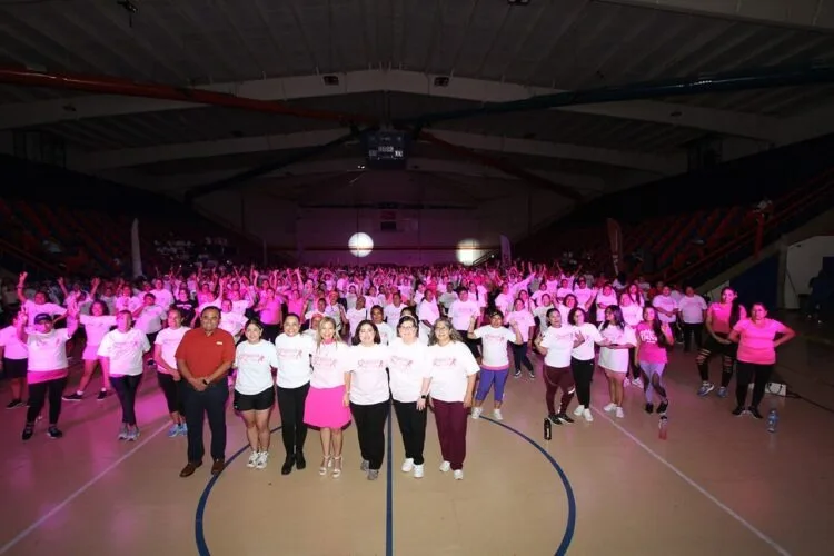
{"type": "Polygon", "coordinates": [[[98,399],[115,391],[121,405],[118,438],[137,440],[137,393],[142,377],[153,373],[170,415],[168,436],[188,439],[182,477],[202,465],[206,420],[211,473],[224,470],[230,390],[246,425],[250,468],[268,465],[268,421],[277,401],[284,475],[306,468],[312,427],[321,444],[318,473],[339,477],[342,430],[353,421],[359,467],[374,480],[393,406],[405,451],[401,469],[420,478],[430,407],[440,470],[463,479],[468,420],[481,417],[490,393],[492,418],[504,418],[509,376],[538,376],[539,358],[532,351],[542,359],[554,425],[594,420],[590,383],[597,366],[608,387],[604,411],[625,418],[631,388],[643,397],[646,413],[665,414],[671,400],[664,371],[675,344],[697,351],[698,396],[715,389],[709,363],[717,357],[717,396],[728,396],[735,371],[732,413],[762,418],[758,407],[776,348],[794,337],[763,305],[742,307],[731,288],[707,304],[691,287],[649,286],[622,275],[609,279],[558,264],[225,271],[198,264],[150,280],[57,279],[41,286],[47,287],[30,287],[23,272],[13,289],[17,299],[3,297],[13,316],[0,330],[12,396],[7,407],[27,406],[22,439],[33,436],[47,401],[47,434],[60,438],[62,401],[85,399],[100,369],[98,399]],[[68,390],[77,353],[80,377],[68,390]],[[574,397],[578,404],[570,410],[574,397]]]}

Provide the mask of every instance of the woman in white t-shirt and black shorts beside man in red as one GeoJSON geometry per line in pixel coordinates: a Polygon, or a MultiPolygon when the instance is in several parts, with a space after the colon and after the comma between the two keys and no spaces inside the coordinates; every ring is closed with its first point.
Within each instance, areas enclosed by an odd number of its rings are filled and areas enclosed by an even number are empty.
{"type": "Polygon", "coordinates": [[[246,424],[250,469],[264,469],[269,461],[269,411],[275,404],[272,369],[278,368],[275,346],[262,339],[264,325],[248,320],[244,327],[246,341],[235,350],[235,409],[246,424]]]}

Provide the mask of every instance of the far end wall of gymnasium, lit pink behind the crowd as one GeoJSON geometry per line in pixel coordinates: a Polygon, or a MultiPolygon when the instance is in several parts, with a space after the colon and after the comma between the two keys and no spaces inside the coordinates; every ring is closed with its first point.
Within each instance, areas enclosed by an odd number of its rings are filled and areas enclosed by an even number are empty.
{"type": "Polygon", "coordinates": [[[502,235],[525,235],[566,208],[558,196],[516,180],[390,171],[261,180],[198,205],[304,262],[407,265],[476,260],[497,249],[502,235]],[[357,232],[374,241],[361,258],[348,249],[357,232]]]}

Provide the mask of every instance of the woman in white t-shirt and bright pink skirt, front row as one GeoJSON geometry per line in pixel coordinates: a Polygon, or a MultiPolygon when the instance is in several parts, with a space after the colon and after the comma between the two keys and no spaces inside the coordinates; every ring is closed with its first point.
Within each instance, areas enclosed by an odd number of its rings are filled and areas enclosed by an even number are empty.
{"type": "Polygon", "coordinates": [[[321,467],[319,475],[341,475],[341,429],[350,423],[349,393],[345,383],[350,374],[348,346],[336,334],[336,322],[325,317],[316,331],[310,391],[304,406],[304,421],[320,429],[321,467]]]}

